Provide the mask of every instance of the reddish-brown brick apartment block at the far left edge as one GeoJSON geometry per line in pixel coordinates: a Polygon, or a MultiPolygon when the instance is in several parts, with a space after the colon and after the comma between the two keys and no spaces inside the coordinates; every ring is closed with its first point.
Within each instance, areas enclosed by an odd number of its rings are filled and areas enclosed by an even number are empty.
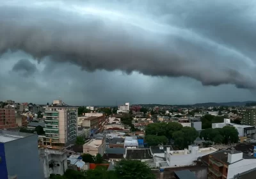
{"type": "Polygon", "coordinates": [[[15,109],[0,108],[0,129],[18,127],[15,119],[15,109]]]}

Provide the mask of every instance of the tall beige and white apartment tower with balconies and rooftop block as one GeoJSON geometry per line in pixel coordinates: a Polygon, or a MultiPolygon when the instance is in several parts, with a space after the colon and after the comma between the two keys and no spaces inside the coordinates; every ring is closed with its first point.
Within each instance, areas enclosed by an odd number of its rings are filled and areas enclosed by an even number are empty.
{"type": "Polygon", "coordinates": [[[77,136],[77,108],[54,100],[45,109],[45,141],[56,146],[68,145],[77,136]]]}

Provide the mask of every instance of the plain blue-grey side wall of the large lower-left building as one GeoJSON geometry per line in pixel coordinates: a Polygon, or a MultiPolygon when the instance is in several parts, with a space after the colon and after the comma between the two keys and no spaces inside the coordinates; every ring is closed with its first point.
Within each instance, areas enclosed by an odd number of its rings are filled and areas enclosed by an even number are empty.
{"type": "Polygon", "coordinates": [[[19,179],[42,179],[43,170],[39,164],[37,135],[4,143],[8,175],[19,179]]]}

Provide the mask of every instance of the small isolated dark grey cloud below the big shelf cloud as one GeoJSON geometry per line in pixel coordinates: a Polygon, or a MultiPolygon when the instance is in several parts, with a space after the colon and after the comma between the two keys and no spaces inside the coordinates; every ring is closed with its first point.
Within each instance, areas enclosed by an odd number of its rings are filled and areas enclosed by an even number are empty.
{"type": "Polygon", "coordinates": [[[12,68],[12,72],[18,72],[24,77],[29,77],[37,71],[36,65],[31,63],[28,59],[20,59],[12,68]]]}

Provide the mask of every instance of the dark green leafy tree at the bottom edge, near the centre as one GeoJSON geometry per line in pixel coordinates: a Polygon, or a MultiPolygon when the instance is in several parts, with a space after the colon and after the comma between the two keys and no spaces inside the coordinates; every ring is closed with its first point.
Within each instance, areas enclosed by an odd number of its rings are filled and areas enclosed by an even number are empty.
{"type": "Polygon", "coordinates": [[[115,166],[118,179],[155,179],[150,167],[140,160],[121,160],[115,166]]]}

